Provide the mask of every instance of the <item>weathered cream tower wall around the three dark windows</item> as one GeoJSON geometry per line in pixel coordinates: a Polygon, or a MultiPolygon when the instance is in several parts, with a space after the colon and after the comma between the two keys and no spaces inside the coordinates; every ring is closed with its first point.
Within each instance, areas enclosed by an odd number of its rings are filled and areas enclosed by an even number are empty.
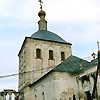
{"type": "Polygon", "coordinates": [[[35,40],[27,38],[19,54],[19,72],[29,72],[20,74],[19,90],[21,90],[27,82],[32,83],[45,73],[50,67],[61,62],[61,52],[65,53],[65,58],[69,57],[71,45],[35,40]],[[41,59],[36,58],[36,49],[41,49],[41,59]],[[49,50],[53,50],[53,60],[49,60],[49,50]]]}

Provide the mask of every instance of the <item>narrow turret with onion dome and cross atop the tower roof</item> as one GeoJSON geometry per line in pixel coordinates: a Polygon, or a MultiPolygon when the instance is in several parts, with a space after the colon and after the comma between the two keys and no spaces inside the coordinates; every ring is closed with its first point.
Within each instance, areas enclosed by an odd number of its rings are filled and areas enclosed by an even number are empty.
{"type": "Polygon", "coordinates": [[[42,0],[39,0],[40,2],[40,11],[38,13],[38,16],[40,17],[40,20],[38,21],[39,30],[47,30],[47,21],[45,20],[45,11],[42,10],[42,0]]]}

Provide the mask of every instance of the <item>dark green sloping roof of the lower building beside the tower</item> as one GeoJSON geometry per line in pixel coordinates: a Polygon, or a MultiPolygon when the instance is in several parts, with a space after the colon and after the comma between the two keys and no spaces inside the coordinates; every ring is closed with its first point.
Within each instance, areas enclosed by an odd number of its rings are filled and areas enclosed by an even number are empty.
{"type": "Polygon", "coordinates": [[[56,66],[53,71],[76,73],[87,68],[89,65],[90,62],[86,60],[75,56],[70,56],[58,66],[56,66]]]}

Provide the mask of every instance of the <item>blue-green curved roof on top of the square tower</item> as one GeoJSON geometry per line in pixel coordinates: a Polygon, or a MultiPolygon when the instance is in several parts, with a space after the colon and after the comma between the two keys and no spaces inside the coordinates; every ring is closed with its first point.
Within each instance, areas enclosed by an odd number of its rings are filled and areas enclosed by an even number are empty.
{"type": "MultiPolygon", "coordinates": [[[[65,40],[63,40],[57,34],[50,32],[50,31],[46,31],[46,30],[39,30],[39,31],[35,32],[33,35],[31,35],[31,38],[53,41],[53,42],[60,42],[60,43],[67,43],[65,40]]],[[[70,43],[67,43],[67,44],[70,44],[70,43]]]]}

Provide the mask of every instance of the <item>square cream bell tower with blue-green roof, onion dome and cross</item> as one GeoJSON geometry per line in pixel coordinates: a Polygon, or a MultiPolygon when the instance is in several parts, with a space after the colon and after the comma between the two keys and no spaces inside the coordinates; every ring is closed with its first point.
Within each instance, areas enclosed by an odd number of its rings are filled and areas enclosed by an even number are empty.
{"type": "Polygon", "coordinates": [[[21,100],[32,100],[29,85],[48,73],[56,65],[71,56],[71,43],[47,30],[46,13],[42,10],[42,1],[38,16],[38,30],[25,37],[19,51],[19,92],[21,100]],[[24,94],[26,93],[26,94],[24,94]],[[23,99],[25,96],[25,99],[23,99]]]}

